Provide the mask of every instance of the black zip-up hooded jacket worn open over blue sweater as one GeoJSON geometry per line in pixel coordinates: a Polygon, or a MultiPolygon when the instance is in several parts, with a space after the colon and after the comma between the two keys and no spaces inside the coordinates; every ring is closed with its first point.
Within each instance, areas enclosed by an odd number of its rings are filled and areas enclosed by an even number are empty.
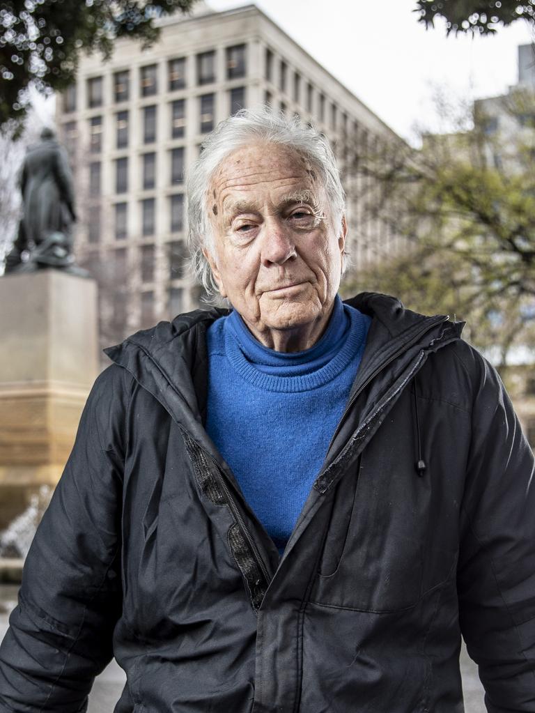
{"type": "MultiPolygon", "coordinates": [[[[28,554],[0,711],[535,711],[534,461],[462,325],[381,295],[348,409],[279,561],[204,431],[193,312],[108,354],[28,554]]],[[[254,458],[254,453],[251,453],[254,458]]]]}

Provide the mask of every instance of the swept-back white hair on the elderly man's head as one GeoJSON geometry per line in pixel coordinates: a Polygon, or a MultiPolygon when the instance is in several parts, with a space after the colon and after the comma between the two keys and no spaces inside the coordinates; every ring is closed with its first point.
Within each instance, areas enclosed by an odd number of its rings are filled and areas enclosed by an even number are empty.
{"type": "Polygon", "coordinates": [[[219,294],[203,250],[214,257],[214,235],[209,218],[209,191],[219,165],[237,148],[256,141],[288,146],[306,158],[318,172],[326,190],[335,227],[341,226],[346,207],[346,195],[340,180],[331,146],[325,135],[298,116],[287,118],[268,107],[241,109],[217,125],[202,143],[202,152],[187,178],[187,245],[190,267],[207,297],[219,294]]]}

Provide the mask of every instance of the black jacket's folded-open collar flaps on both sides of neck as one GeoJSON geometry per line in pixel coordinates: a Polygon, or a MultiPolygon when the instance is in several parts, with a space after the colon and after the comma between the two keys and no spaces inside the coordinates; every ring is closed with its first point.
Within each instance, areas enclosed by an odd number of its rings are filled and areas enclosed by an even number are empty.
{"type": "MultiPolygon", "coordinates": [[[[447,322],[446,315],[426,317],[412,312],[385,294],[362,292],[346,302],[373,318],[352,394],[389,359],[458,339],[464,325],[447,322]]],[[[215,319],[226,314],[228,309],[197,309],[104,350],[196,439],[206,438],[202,426],[207,396],[206,332],[215,319]]]]}

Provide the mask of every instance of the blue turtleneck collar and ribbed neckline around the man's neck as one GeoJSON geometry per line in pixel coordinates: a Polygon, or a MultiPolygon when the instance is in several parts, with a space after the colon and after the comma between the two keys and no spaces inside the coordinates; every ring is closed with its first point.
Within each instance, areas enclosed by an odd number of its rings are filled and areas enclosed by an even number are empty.
{"type": "Polygon", "coordinates": [[[341,374],[365,341],[368,319],[336,297],[319,341],[303,352],[276,352],[260,344],[234,310],[225,319],[227,358],[241,378],[266,391],[317,389],[341,374]]]}

